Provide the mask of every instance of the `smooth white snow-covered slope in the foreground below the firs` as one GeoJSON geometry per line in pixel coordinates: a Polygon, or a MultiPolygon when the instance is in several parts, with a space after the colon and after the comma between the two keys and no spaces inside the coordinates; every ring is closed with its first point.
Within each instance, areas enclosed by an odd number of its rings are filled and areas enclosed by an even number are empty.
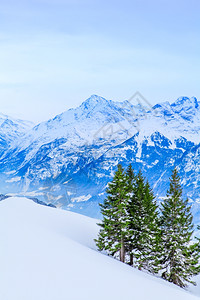
{"type": "Polygon", "coordinates": [[[199,299],[95,250],[94,219],[25,198],[0,202],[0,299],[199,299]]]}

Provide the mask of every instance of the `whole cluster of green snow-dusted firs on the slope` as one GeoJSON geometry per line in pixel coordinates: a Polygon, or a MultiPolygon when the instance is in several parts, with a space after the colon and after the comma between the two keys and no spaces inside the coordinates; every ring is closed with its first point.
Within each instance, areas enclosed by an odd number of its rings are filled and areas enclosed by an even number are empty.
{"type": "Polygon", "coordinates": [[[200,273],[200,241],[192,241],[191,207],[182,198],[176,168],[160,209],[148,181],[131,165],[126,171],[118,165],[100,206],[103,220],[95,240],[100,251],[180,287],[195,284],[191,278],[200,273]]]}

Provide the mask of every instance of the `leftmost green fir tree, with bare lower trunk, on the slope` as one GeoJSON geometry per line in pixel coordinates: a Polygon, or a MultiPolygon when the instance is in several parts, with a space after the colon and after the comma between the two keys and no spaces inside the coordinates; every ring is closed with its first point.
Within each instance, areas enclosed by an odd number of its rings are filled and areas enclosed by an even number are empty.
{"type": "Polygon", "coordinates": [[[127,185],[126,175],[121,165],[106,190],[108,196],[101,204],[103,215],[101,230],[96,240],[100,251],[107,250],[110,255],[119,254],[120,261],[125,262],[127,250],[127,185]]]}

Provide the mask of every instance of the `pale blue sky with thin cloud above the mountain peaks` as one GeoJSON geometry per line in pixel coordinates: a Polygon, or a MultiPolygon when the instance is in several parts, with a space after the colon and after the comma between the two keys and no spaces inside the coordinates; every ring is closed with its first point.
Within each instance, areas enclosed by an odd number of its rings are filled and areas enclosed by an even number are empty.
{"type": "Polygon", "coordinates": [[[91,94],[200,99],[199,0],[0,0],[0,112],[39,122],[91,94]]]}

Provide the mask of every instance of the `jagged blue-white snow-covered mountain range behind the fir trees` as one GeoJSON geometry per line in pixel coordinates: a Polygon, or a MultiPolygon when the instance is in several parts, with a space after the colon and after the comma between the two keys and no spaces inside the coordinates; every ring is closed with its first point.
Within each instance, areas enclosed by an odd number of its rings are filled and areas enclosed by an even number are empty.
{"type": "Polygon", "coordinates": [[[6,120],[9,125],[0,121],[2,193],[99,217],[98,203],[118,163],[142,169],[158,200],[176,165],[184,196],[195,216],[200,214],[200,102],[195,97],[151,107],[142,97],[114,102],[92,95],[32,128],[6,120]]]}

